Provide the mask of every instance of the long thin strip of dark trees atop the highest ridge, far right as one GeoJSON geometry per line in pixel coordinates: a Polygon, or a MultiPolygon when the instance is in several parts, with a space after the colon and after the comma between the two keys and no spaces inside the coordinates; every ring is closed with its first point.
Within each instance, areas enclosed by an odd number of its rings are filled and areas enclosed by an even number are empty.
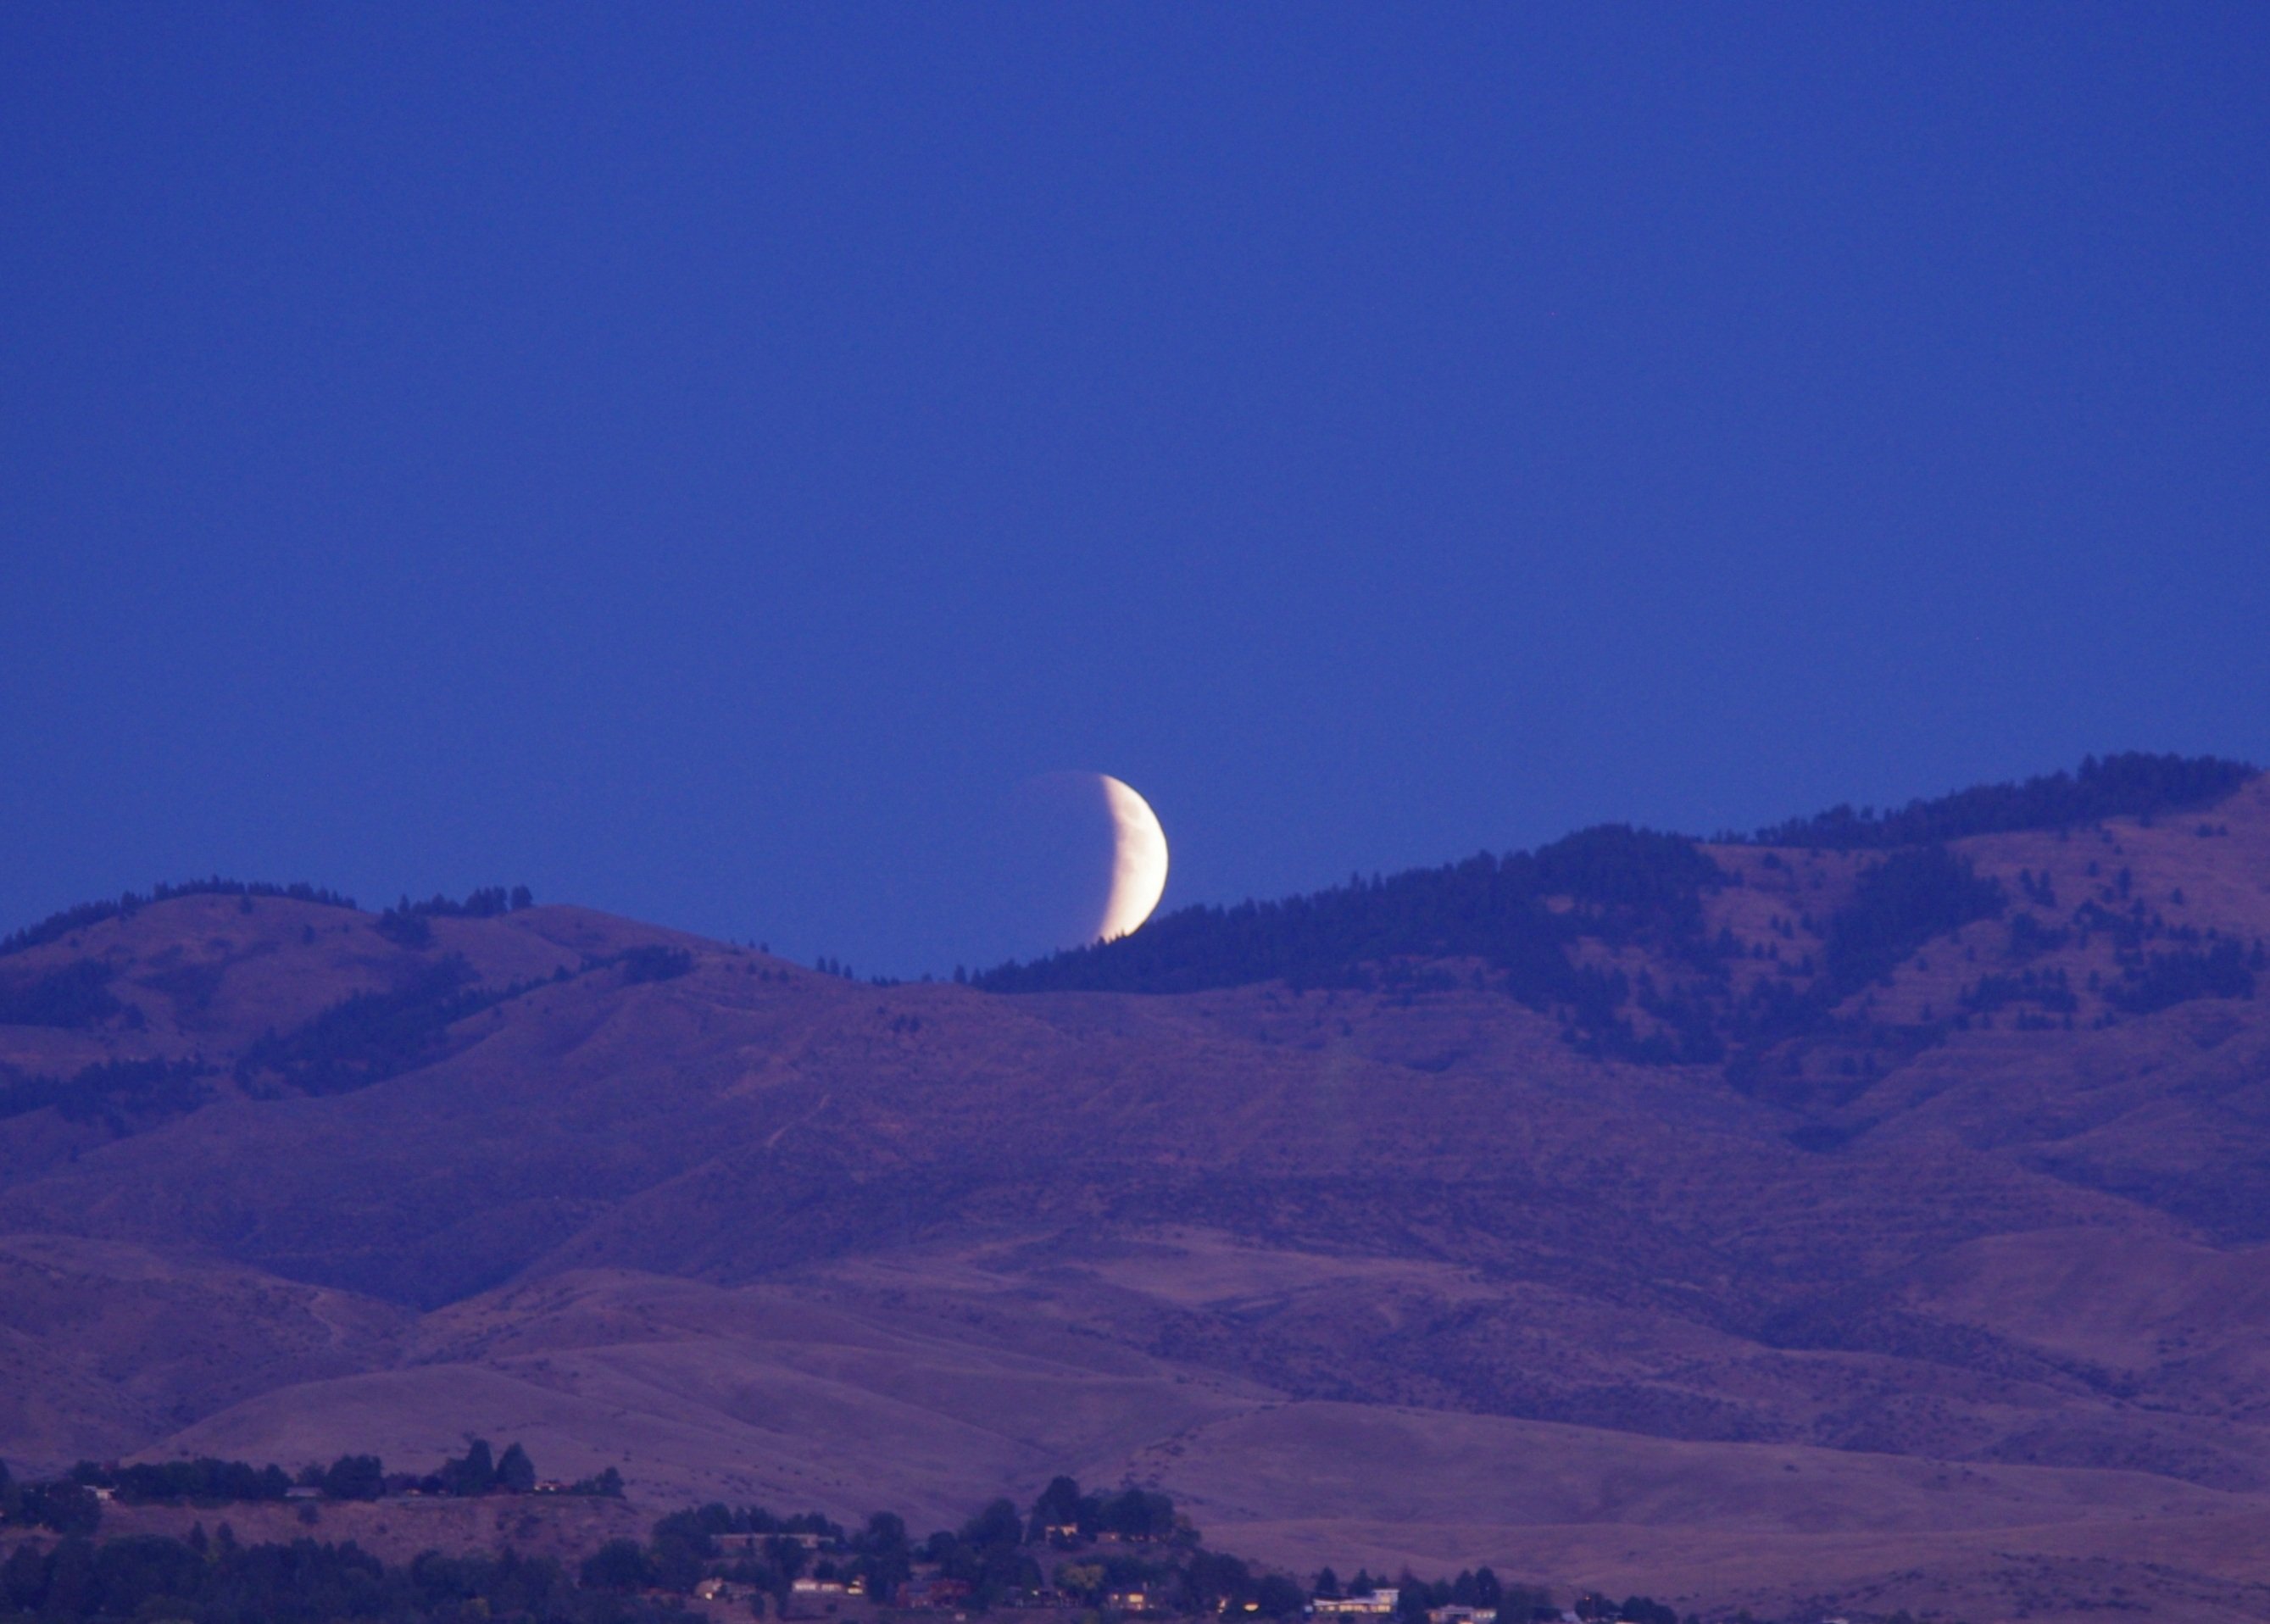
{"type": "Polygon", "coordinates": [[[1811,818],[1791,818],[1748,838],[1755,845],[1800,845],[1827,849],[1932,845],[1973,834],[2013,829],[2070,829],[2104,818],[2154,818],[2209,806],[2252,779],[2254,765],[2218,756],[2152,756],[2129,752],[2086,756],[2079,772],[2050,772],[2023,784],[1982,784],[1936,800],[1875,811],[1832,806],[1811,818]]]}

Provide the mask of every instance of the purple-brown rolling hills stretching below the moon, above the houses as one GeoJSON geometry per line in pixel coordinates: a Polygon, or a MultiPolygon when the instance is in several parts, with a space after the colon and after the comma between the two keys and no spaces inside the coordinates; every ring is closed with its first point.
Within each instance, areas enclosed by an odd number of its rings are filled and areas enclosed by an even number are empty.
{"type": "Polygon", "coordinates": [[[82,913],[0,954],[0,1456],[1074,1472],[1296,1565],[2270,1617],[2270,786],[1843,822],[1469,872],[1550,961],[1167,995],[82,913]]]}

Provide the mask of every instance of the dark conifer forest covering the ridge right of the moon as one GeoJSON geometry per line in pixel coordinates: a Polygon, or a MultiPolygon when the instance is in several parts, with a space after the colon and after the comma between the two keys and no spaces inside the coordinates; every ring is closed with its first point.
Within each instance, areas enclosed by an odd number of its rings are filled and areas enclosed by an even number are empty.
{"type": "MultiPolygon", "coordinates": [[[[1752,836],[1759,843],[1880,847],[1884,856],[1861,872],[1852,897],[1827,920],[1818,965],[1807,954],[1782,974],[1750,981],[1741,995],[1732,979],[1739,945],[1702,927],[1702,899],[1727,877],[1698,843],[1630,827],[1584,829],[1503,859],[1485,852],[1387,879],[1353,877],[1346,886],[1285,902],[1183,909],[1115,943],[967,979],[994,993],[1189,993],[1271,979],[1296,990],[1419,993],[1453,983],[1441,961],[1473,959],[1489,968],[1476,977],[1478,986],[1553,1011],[1562,1036],[1587,1054],[1689,1065],[1727,1061],[1734,1081],[1746,1083],[1777,1045],[1852,1027],[1839,1008],[1934,938],[2009,913],[2002,886],[1948,840],[2111,815],[2152,818],[2222,800],[2254,772],[2213,756],[2091,756],[2077,772],[1982,786],[1886,813],[1839,806],[1762,829],[1752,836]],[[1573,952],[1582,940],[1639,943],[1668,974],[1582,963],[1573,952]]],[[[2122,897],[2127,888],[2122,870],[2122,897]]],[[[2020,874],[2020,890],[2036,906],[2057,902],[2048,874],[2020,874]]],[[[2120,983],[2107,993],[2116,1008],[2252,995],[2261,963],[2211,940],[2145,956],[2141,945],[2168,931],[2143,904],[2132,913],[2116,915],[2091,902],[2073,927],[2052,927],[2020,909],[2009,927],[2009,959],[2023,965],[2068,945],[2073,929],[2084,936],[2109,929],[2125,961],[2120,983]]],[[[965,979],[962,972],[956,979],[965,979]]],[[[2061,981],[1989,974],[1966,990],[1964,1008],[1939,1022],[1886,1029],[1882,1038],[1891,1047],[1923,1047],[1948,1024],[1968,1024],[2011,1002],[2038,1006],[2025,1015],[2036,1024],[2054,1024],[2075,1008],[2061,981]]]]}

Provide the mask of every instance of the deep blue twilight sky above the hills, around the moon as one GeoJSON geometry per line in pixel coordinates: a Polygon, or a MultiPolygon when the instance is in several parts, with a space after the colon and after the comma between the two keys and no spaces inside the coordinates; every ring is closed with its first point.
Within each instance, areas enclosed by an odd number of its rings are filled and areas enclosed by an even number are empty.
{"type": "Polygon", "coordinates": [[[2270,9],[0,9],[0,929],[997,956],[2270,759],[2270,9]]]}

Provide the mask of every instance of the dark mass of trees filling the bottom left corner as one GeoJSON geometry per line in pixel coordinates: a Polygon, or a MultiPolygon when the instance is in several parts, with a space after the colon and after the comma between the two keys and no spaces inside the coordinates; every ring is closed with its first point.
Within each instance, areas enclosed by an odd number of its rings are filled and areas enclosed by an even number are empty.
{"type": "Polygon", "coordinates": [[[581,1590],[547,1558],[440,1556],[381,1563],[350,1545],[238,1545],[216,1538],[138,1535],[52,1549],[18,1545],[0,1563],[0,1617],[184,1619],[186,1624],[661,1624],[686,1613],[608,1590],[581,1590]]]}

